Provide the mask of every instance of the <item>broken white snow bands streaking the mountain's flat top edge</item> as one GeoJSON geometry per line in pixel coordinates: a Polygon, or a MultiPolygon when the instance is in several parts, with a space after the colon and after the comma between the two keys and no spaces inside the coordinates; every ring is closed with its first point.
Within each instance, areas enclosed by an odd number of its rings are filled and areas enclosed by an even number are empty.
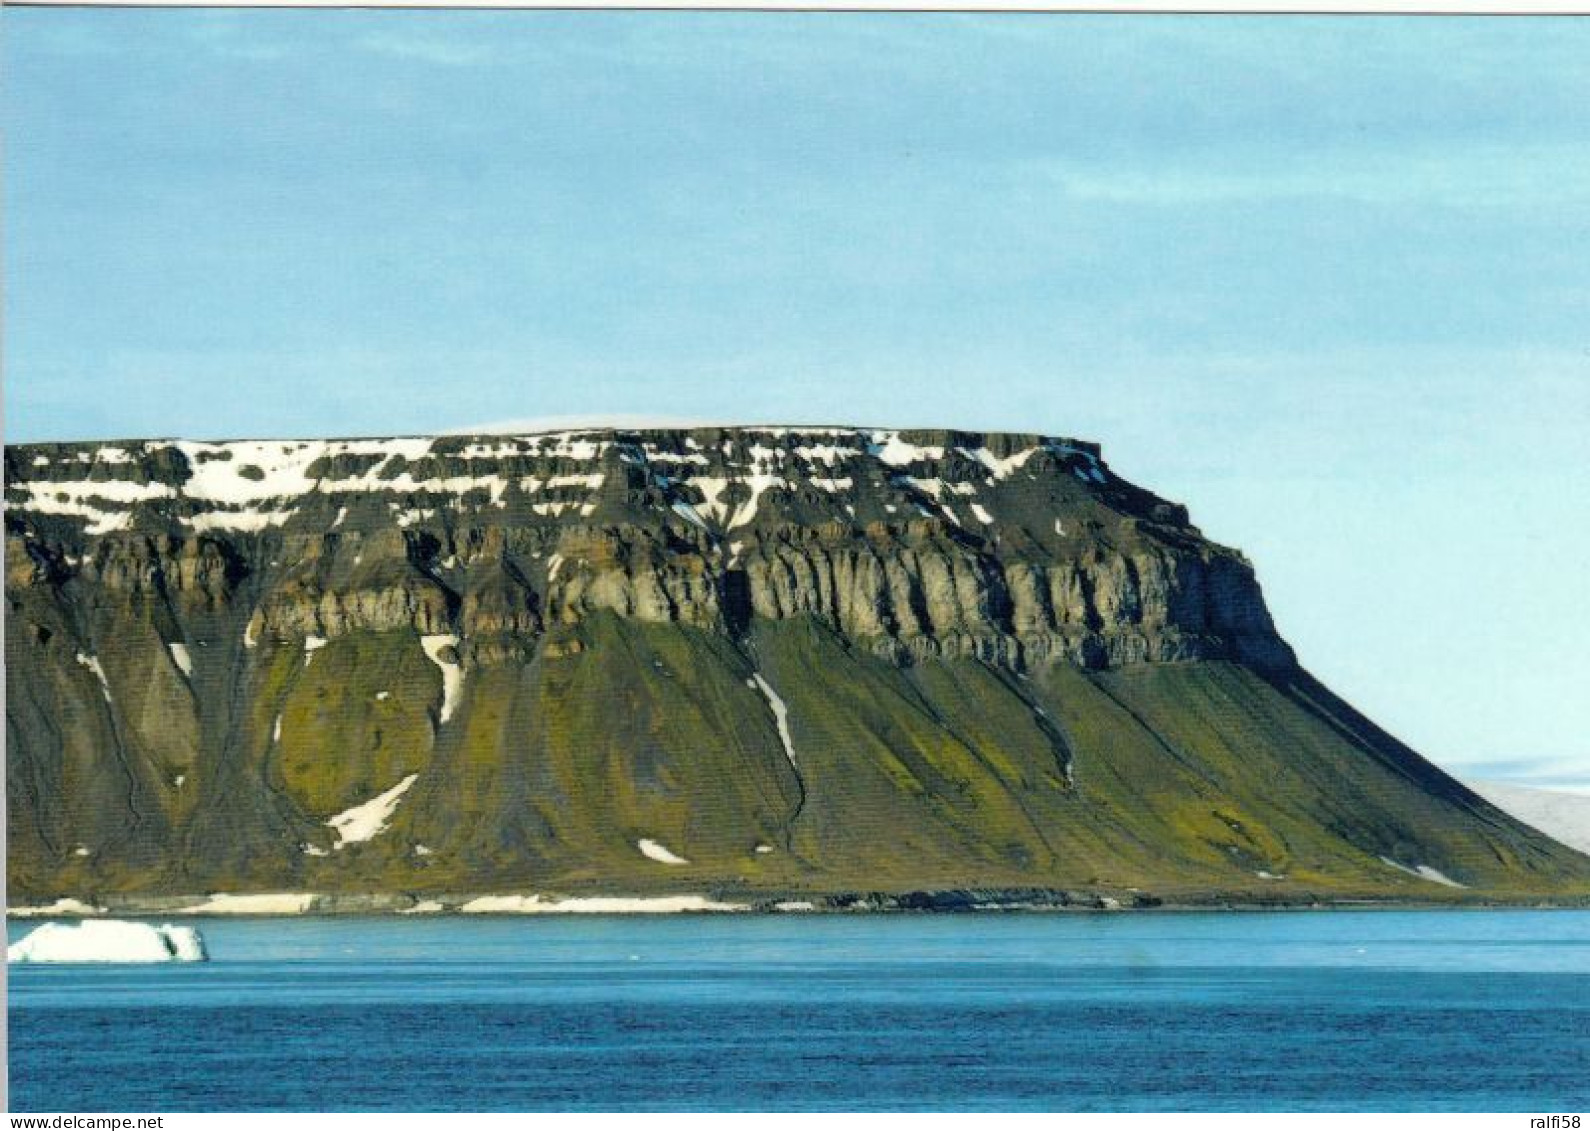
{"type": "MultiPolygon", "coordinates": [[[[711,471],[720,461],[719,476],[688,482],[695,482],[706,498],[696,507],[698,514],[728,527],[752,522],[758,514],[760,495],[773,485],[803,485],[830,493],[854,490],[854,472],[868,461],[906,471],[948,457],[976,464],[986,474],[979,482],[997,482],[1021,469],[1027,469],[1030,477],[1032,457],[1051,453],[1061,457],[1080,480],[1108,482],[1091,450],[1061,439],[1040,439],[1021,452],[997,457],[983,445],[911,444],[897,429],[749,426],[711,447],[720,452],[719,458],[709,458],[693,436],[685,436],[681,442],[679,437],[623,436],[576,428],[479,437],[464,445],[439,445],[437,437],[429,436],[153,441],[103,445],[62,458],[37,455],[32,461],[35,468],[70,463],[70,471],[80,479],[14,482],[6,493],[14,506],[40,514],[75,515],[86,520],[87,533],[103,534],[129,530],[137,507],[165,503],[176,504],[172,507],[173,517],[197,531],[261,533],[288,523],[305,504],[318,499],[318,506],[312,506],[308,514],[318,515],[324,506],[328,514],[335,514],[331,527],[340,528],[350,515],[355,495],[385,495],[391,499],[393,520],[401,527],[429,522],[445,507],[506,507],[510,492],[584,493],[584,498],[542,496],[542,501],[528,506],[534,514],[547,517],[590,517],[596,511],[595,495],[606,476],[598,461],[614,450],[626,463],[655,464],[669,471],[711,471]],[[173,453],[181,453],[184,464],[176,472],[184,476],[181,482],[145,482],[138,476],[140,461],[173,453]],[[539,468],[537,474],[525,474],[525,460],[556,460],[558,464],[539,468]],[[487,466],[471,466],[480,461],[487,466]],[[491,466],[490,461],[502,461],[502,466],[491,466]],[[91,469],[102,466],[116,466],[110,474],[129,477],[87,477],[91,469]],[[750,488],[750,498],[733,514],[720,501],[723,487],[730,482],[744,482],[750,488]]],[[[973,490],[973,484],[957,484],[951,490],[965,493],[973,490]]]]}

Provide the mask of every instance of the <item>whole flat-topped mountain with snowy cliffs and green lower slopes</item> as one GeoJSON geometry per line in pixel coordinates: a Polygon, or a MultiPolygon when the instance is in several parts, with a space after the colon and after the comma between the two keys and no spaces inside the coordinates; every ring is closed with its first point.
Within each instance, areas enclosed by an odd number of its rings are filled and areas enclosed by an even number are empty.
{"type": "Polygon", "coordinates": [[[1243,886],[1296,878],[1227,759],[1326,799],[1315,886],[1402,884],[1377,859],[1415,849],[1490,884],[1580,875],[1328,702],[1242,555],[1092,444],[703,428],[5,458],[24,894],[1220,889],[1234,856],[1274,865],[1243,886]],[[1218,687],[1151,722],[1188,671],[1218,687]],[[1088,802],[1134,743],[1138,779],[1088,802]],[[1310,743],[1358,751],[1347,784],[1294,765],[1310,743]],[[1383,797],[1336,811],[1377,773],[1466,848],[1383,797]],[[1132,791],[1175,795],[1164,829],[1132,791]]]}

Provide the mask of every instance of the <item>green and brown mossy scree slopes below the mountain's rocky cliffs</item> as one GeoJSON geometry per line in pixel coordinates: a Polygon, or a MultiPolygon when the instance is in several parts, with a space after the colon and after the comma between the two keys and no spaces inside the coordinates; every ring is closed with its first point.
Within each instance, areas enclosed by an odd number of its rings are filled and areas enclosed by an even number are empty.
{"type": "MultiPolygon", "coordinates": [[[[43,686],[16,681],[10,709],[68,703],[43,733],[105,749],[121,724],[68,660],[35,665],[43,686]]],[[[140,686],[111,667],[118,698],[140,686]]],[[[169,690],[146,682],[146,697],[169,690]]],[[[310,654],[261,644],[235,687],[242,725],[199,765],[180,744],[181,760],[151,751],[130,767],[14,744],[13,889],[1590,894],[1590,859],[1301,671],[902,667],[814,617],[758,620],[736,643],[595,614],[520,663],[471,670],[447,722],[412,632],[310,654]],[[793,760],[758,678],[787,709],[793,760]],[[196,784],[196,802],[143,800],[183,768],[197,781],[165,792],[196,784]],[[337,845],[334,814],[410,775],[383,832],[337,845]],[[129,797],[146,806],[137,819],[129,797]]]]}

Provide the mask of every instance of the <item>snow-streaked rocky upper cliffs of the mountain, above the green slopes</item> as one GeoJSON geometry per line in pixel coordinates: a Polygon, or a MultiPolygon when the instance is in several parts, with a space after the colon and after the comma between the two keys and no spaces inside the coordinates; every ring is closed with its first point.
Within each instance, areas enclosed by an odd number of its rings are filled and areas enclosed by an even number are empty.
{"type": "Polygon", "coordinates": [[[854,429],[14,449],[11,571],[221,609],[250,639],[522,643],[598,609],[812,616],[882,655],[1291,662],[1253,571],[1043,436],[854,429]]]}

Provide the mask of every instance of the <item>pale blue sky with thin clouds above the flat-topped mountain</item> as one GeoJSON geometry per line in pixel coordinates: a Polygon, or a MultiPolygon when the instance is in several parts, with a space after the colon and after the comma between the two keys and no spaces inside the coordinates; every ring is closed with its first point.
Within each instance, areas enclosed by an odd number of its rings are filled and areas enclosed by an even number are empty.
{"type": "Polygon", "coordinates": [[[5,431],[1099,439],[1590,786],[1590,24],[6,10],[5,431]]]}

